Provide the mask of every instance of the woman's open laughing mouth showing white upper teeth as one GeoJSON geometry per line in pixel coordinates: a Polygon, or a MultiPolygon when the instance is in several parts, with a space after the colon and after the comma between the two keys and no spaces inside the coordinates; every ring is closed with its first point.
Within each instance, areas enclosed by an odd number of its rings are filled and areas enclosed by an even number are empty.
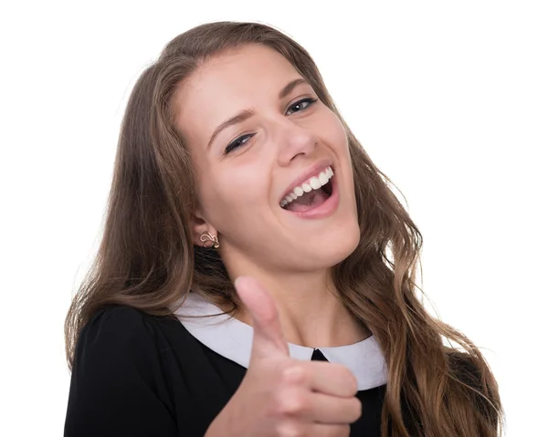
{"type": "Polygon", "coordinates": [[[284,197],[279,205],[292,213],[305,213],[325,203],[333,192],[331,166],[327,167],[318,176],[295,187],[293,192],[284,197]]]}

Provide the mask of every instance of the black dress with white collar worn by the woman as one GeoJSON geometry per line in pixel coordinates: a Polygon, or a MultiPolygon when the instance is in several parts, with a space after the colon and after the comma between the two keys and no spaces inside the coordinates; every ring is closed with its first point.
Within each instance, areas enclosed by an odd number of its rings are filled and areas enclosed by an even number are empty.
{"type": "MultiPolygon", "coordinates": [[[[191,293],[179,319],[123,306],[96,313],[77,343],[65,437],[204,436],[244,378],[252,339],[251,327],[226,315],[185,318],[218,312],[191,293]]],[[[290,354],[349,365],[363,404],[351,436],[380,436],[386,372],[374,337],[339,348],[290,344],[290,354]]]]}

